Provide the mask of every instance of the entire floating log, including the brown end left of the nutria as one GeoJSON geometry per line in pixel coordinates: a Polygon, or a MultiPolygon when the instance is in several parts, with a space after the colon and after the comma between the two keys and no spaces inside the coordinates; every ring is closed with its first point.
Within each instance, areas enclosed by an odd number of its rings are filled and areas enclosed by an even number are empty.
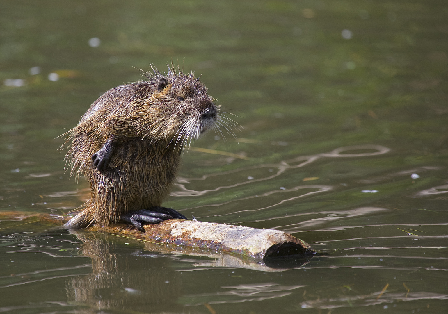
{"type": "MultiPolygon", "coordinates": [[[[0,232],[4,230],[2,227],[6,223],[5,220],[22,220],[22,224],[28,224],[28,229],[33,230],[34,228],[31,227],[33,222],[46,228],[55,227],[68,221],[74,214],[57,216],[0,212],[2,221],[0,232]]],[[[20,226],[21,223],[17,222],[15,225],[20,226]]],[[[14,227],[12,223],[8,225],[10,226],[6,228],[14,227]]],[[[223,262],[222,266],[225,267],[241,267],[241,261],[245,261],[246,268],[254,268],[248,266],[260,263],[267,265],[272,262],[275,264],[282,258],[303,259],[303,262],[307,262],[315,253],[304,241],[273,229],[257,229],[184,219],[169,219],[160,224],[146,224],[144,228],[145,232],[140,232],[130,224],[111,224],[107,227],[93,226],[87,230],[144,241],[147,249],[161,253],[213,255],[214,258],[217,254],[227,253],[227,255],[237,257],[236,259],[220,258],[223,262]]],[[[76,234],[78,231],[73,233],[76,234]]]]}

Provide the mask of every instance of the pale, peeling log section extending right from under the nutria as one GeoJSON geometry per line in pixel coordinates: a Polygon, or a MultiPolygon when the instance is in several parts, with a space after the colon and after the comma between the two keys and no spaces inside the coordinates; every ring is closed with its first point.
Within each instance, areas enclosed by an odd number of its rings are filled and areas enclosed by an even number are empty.
{"type": "Polygon", "coordinates": [[[310,245],[302,240],[272,229],[256,229],[183,219],[169,219],[160,224],[147,224],[144,228],[145,232],[140,232],[128,224],[112,224],[108,227],[89,229],[146,241],[222,251],[253,258],[282,254],[312,254],[314,252],[310,245]],[[280,247],[281,245],[287,246],[289,252],[280,247]]]}

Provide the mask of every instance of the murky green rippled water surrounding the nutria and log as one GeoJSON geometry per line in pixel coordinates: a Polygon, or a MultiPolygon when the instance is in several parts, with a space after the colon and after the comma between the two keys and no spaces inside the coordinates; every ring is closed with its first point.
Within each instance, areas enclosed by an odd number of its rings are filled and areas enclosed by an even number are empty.
{"type": "Polygon", "coordinates": [[[0,312],[446,313],[446,1],[4,0],[0,17],[0,211],[80,206],[56,137],[172,58],[241,128],[185,152],[165,206],[332,253],[226,268],[0,222],[0,312]]]}

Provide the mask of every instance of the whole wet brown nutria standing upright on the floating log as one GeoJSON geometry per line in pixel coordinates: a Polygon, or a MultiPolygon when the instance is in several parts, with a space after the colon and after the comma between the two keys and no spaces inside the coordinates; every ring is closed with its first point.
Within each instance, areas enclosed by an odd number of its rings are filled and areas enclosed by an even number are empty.
{"type": "Polygon", "coordinates": [[[143,77],[105,92],[63,134],[71,174],[84,174],[92,192],[65,228],[127,222],[143,231],[143,222],[186,219],[160,205],[185,145],[215,127],[217,106],[192,71],[176,73],[168,65],[168,73],[153,68],[143,77]]]}

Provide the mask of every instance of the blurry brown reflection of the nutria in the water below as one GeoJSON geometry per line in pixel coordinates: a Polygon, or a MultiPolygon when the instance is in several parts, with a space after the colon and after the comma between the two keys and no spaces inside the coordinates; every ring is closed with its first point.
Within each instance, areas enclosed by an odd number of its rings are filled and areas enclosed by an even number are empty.
{"type": "Polygon", "coordinates": [[[98,310],[134,310],[145,313],[179,311],[175,302],[181,294],[180,273],[169,260],[141,258],[119,252],[107,234],[74,232],[82,241],[82,255],[91,258],[92,273],[66,281],[67,298],[81,305],[76,313],[98,310]],[[82,308],[82,305],[90,308],[82,308]]]}

